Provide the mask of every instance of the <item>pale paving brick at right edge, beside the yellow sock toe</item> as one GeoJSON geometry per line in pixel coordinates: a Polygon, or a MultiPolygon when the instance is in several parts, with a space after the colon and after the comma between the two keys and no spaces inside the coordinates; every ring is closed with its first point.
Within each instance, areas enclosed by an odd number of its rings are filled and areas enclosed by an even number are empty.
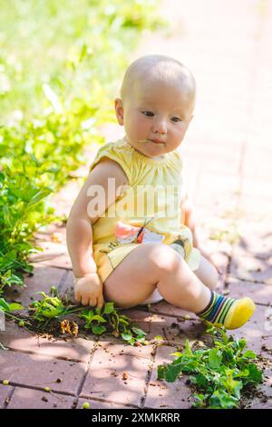
{"type": "Polygon", "coordinates": [[[228,291],[231,298],[249,296],[255,303],[272,304],[272,285],[240,281],[229,277],[228,291]]]}

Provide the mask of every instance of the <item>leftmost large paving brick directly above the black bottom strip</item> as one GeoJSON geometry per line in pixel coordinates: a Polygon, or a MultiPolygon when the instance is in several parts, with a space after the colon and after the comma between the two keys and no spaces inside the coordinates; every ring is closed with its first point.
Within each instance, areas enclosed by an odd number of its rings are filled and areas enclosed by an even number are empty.
{"type": "Polygon", "coordinates": [[[73,396],[16,387],[8,409],[71,409],[73,396]]]}

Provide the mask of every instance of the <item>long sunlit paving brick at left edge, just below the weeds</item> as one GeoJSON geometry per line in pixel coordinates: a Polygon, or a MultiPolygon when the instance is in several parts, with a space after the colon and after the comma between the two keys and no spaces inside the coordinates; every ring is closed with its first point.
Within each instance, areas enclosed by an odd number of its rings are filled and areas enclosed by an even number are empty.
{"type": "Polygon", "coordinates": [[[0,334],[1,343],[10,350],[45,354],[55,358],[73,359],[79,362],[90,360],[94,342],[83,338],[47,339],[29,333],[15,323],[6,323],[5,333],[0,334]]]}

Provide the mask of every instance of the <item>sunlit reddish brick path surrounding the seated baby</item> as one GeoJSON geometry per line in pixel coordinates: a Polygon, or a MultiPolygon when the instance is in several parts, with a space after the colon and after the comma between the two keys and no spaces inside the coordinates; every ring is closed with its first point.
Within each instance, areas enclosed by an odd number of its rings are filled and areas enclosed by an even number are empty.
{"type": "MultiPolygon", "coordinates": [[[[265,357],[270,367],[271,3],[167,0],[161,10],[173,23],[171,31],[165,36],[147,33],[133,56],[173,55],[196,76],[198,105],[183,153],[200,242],[224,271],[219,290],[237,297],[247,294],[257,303],[252,320],[234,335],[245,337],[248,347],[265,357]]],[[[117,126],[102,132],[109,139],[121,135],[117,126]]],[[[66,212],[77,191],[74,184],[68,188],[58,195],[58,206],[63,203],[66,212]]],[[[34,276],[26,279],[27,288],[16,296],[24,304],[31,302],[34,292],[49,292],[52,285],[61,291],[72,287],[64,230],[56,230],[61,243],[52,241],[53,231],[51,227],[38,235],[45,252],[39,255],[34,276]]],[[[131,347],[109,337],[99,343],[92,336],[48,341],[7,323],[0,336],[8,348],[0,352],[0,380],[9,379],[10,385],[0,385],[0,407],[80,408],[88,401],[92,408],[188,408],[185,381],[157,382],[156,366],[170,361],[170,353],[186,338],[190,343],[197,340],[203,326],[194,315],[184,320],[184,312],[167,303],[153,305],[151,313],[136,307],[128,314],[149,338],[162,335],[164,344],[154,350],[151,345],[131,347]],[[128,373],[126,381],[123,372],[128,373]],[[62,382],[56,382],[58,378],[62,382]],[[44,392],[44,386],[53,393],[44,392]]],[[[267,397],[254,399],[251,408],[271,408],[268,367],[265,373],[260,390],[267,397]]]]}

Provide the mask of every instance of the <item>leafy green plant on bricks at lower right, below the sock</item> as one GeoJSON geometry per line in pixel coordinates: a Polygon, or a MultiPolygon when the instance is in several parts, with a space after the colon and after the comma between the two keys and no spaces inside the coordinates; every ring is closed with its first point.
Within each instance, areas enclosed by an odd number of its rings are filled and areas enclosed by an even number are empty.
{"type": "Polygon", "coordinates": [[[252,362],[257,356],[244,352],[247,341],[228,337],[224,328],[211,326],[207,332],[214,336],[212,348],[192,351],[187,340],[183,353],[173,353],[177,356],[173,362],[158,367],[158,379],[174,382],[181,373],[190,374],[189,382],[197,391],[193,406],[238,408],[245,387],[262,382],[262,372],[252,362]]]}

